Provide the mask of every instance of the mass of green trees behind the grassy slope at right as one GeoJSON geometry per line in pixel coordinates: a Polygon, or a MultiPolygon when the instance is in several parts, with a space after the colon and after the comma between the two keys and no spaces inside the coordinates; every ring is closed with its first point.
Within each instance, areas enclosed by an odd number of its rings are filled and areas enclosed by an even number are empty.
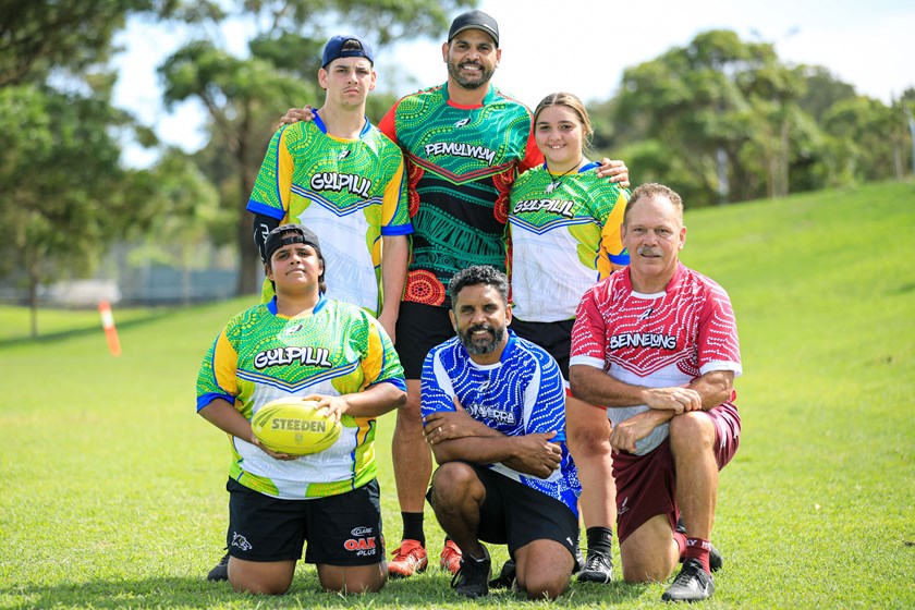
{"type": "Polygon", "coordinates": [[[612,125],[599,146],[613,146],[639,181],[675,184],[690,205],[901,179],[911,142],[902,108],[729,30],[626,70],[595,114],[598,127],[612,125]]]}

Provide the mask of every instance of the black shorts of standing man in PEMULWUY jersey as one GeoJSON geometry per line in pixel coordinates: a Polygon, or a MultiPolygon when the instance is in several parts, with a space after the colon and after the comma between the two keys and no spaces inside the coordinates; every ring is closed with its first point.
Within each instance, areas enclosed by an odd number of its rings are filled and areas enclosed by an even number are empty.
{"type": "Polygon", "coordinates": [[[394,349],[405,379],[422,379],[429,350],[454,337],[448,307],[404,301],[398,315],[394,349]]]}

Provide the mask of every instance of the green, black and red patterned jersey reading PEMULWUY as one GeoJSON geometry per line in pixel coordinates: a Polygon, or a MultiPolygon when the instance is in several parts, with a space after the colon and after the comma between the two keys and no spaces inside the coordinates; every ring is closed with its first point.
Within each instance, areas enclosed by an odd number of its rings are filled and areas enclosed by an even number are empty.
{"type": "Polygon", "coordinates": [[[403,300],[449,307],[451,277],[471,265],[505,269],[509,194],[544,162],[530,110],[489,86],[462,106],[439,85],[400,99],[378,123],[407,167],[411,258],[403,300]]]}

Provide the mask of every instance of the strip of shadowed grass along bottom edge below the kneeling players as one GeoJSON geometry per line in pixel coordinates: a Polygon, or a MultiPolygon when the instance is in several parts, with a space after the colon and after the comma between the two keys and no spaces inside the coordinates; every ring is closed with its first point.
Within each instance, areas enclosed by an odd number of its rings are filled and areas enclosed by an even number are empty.
{"type": "MultiPolygon", "coordinates": [[[[432,574],[408,581],[389,581],[378,594],[342,596],[319,589],[313,570],[297,572],[289,593],[277,597],[236,594],[229,583],[210,583],[195,577],[152,577],[88,581],[59,585],[27,584],[0,587],[0,607],[20,608],[403,608],[416,607],[512,607],[526,600],[499,589],[469,600],[454,593],[451,577],[432,574]]],[[[631,606],[644,585],[613,582],[609,585],[573,582],[554,606],[631,606]]]]}

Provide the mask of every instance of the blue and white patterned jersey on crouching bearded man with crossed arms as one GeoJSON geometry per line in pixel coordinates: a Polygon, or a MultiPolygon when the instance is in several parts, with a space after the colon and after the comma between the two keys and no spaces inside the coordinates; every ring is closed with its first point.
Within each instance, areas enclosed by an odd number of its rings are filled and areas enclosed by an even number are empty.
{"type": "Polygon", "coordinates": [[[548,477],[522,474],[504,464],[487,467],[559,500],[578,514],[577,468],[565,444],[565,390],[552,356],[508,331],[500,361],[478,365],[459,338],[434,347],[423,364],[423,417],[454,411],[456,395],[467,414],[499,432],[517,437],[556,430],[562,447],[560,467],[548,477]]]}

